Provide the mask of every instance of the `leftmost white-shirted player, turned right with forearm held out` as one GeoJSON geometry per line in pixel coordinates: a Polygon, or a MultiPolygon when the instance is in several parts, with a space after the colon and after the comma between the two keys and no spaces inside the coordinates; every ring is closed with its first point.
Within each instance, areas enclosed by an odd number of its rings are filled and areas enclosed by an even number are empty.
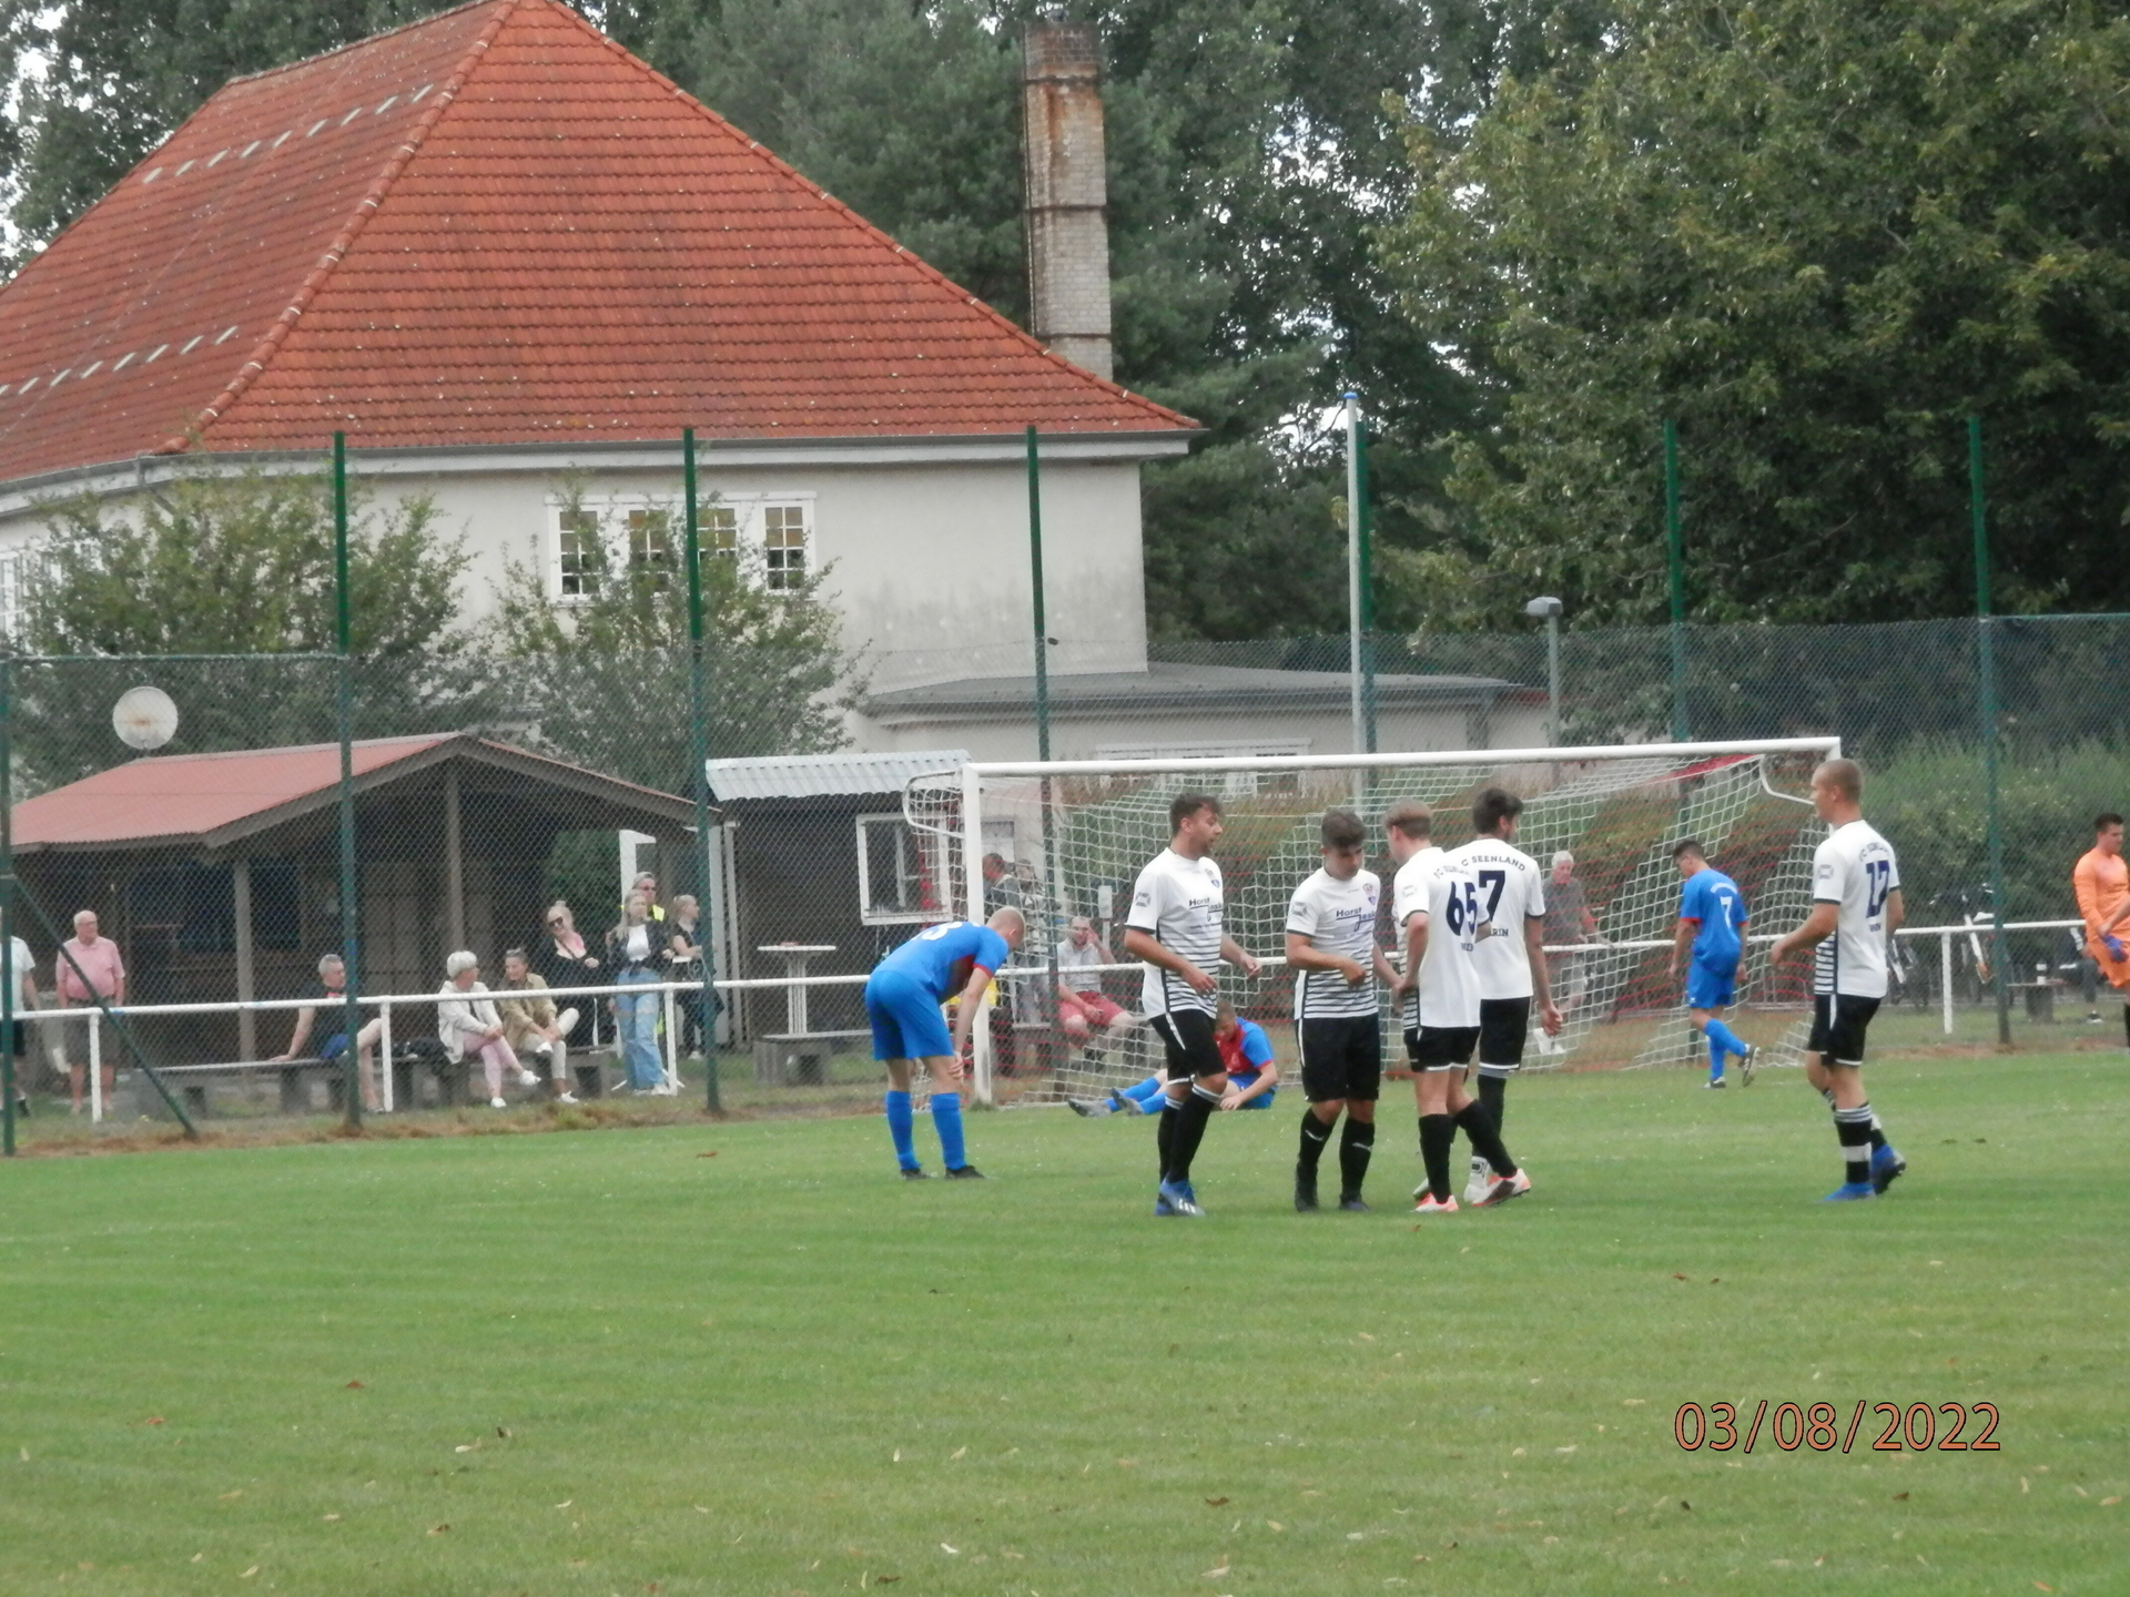
{"type": "Polygon", "coordinates": [[[1169,803],[1169,845],[1140,871],[1125,918],[1125,952],[1146,962],[1142,1007],[1167,1052],[1154,1214],[1203,1216],[1191,1190],[1191,1160],[1227,1090],[1227,1065],[1212,1039],[1218,988],[1212,967],[1227,960],[1257,975],[1257,960],[1225,931],[1220,867],[1210,858],[1218,837],[1218,801],[1203,792],[1178,794],[1169,803]]]}

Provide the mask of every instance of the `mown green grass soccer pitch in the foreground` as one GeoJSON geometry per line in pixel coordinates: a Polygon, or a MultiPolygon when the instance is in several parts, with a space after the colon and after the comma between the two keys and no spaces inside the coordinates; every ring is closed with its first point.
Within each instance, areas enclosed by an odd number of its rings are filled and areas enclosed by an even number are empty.
{"type": "Polygon", "coordinates": [[[1423,1231],[1402,1084],[1370,1216],[1291,1212],[1289,1092],[1203,1222],[1056,1112],[973,1116],[984,1184],[878,1118],[21,1160],[0,1588],[2121,1593],[2130,1075],[1870,1080],[1881,1203],[1815,1205],[1796,1071],[1636,1071],[1514,1086],[1536,1192],[1423,1231]],[[1866,1414],[1785,1452],[1785,1401],[1866,1414]]]}

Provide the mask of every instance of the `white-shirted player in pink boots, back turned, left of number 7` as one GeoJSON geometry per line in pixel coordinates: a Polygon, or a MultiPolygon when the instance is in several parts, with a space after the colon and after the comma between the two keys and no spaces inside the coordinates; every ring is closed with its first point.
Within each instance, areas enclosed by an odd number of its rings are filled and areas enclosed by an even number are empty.
{"type": "Polygon", "coordinates": [[[1451,1197],[1457,1126],[1491,1165],[1487,1190],[1476,1201],[1504,1203],[1529,1192],[1531,1178],[1508,1156],[1493,1114],[1463,1086],[1480,1033],[1478,969],[1472,960],[1480,928],[1478,882],[1429,843],[1433,816],[1427,805],[1395,805],[1382,824],[1397,862],[1391,918],[1406,948],[1406,971],[1395,990],[1406,994],[1406,1052],[1421,1112],[1421,1160],[1427,1165],[1427,1184],[1414,1190],[1412,1212],[1457,1214],[1457,1199],[1451,1197]]]}

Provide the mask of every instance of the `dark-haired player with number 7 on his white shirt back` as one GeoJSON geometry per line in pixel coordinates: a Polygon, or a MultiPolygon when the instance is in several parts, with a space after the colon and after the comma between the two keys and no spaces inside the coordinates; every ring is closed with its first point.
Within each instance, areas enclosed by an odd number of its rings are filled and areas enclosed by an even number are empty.
{"type": "MultiPolygon", "coordinates": [[[[1546,877],[1538,860],[1517,847],[1519,816],[1523,798],[1506,788],[1480,788],[1472,801],[1472,841],[1451,850],[1478,884],[1480,922],[1493,928],[1472,950],[1472,969],[1478,971],[1478,1097],[1495,1131],[1508,1120],[1508,1077],[1523,1069],[1534,997],[1544,1035],[1561,1031],[1546,979],[1546,877]]],[[[1485,1203],[1491,1180],[1474,1146],[1465,1203],[1485,1203]]]]}

